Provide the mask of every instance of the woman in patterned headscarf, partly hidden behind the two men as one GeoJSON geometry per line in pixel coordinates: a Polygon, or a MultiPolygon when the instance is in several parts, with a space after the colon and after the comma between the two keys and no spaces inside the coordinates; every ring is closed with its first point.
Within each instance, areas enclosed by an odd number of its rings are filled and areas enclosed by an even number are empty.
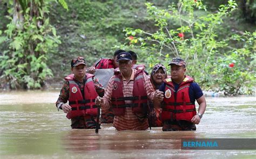
{"type": "MultiPolygon", "coordinates": [[[[153,70],[150,75],[150,81],[153,85],[154,90],[158,90],[159,86],[163,83],[164,79],[167,78],[166,74],[166,68],[164,67],[163,64],[156,64],[153,67],[153,70]]],[[[163,126],[161,120],[160,120],[160,114],[161,114],[161,109],[156,109],[153,106],[153,103],[151,103],[151,111],[149,113],[149,122],[151,127],[161,127],[163,126]]]]}

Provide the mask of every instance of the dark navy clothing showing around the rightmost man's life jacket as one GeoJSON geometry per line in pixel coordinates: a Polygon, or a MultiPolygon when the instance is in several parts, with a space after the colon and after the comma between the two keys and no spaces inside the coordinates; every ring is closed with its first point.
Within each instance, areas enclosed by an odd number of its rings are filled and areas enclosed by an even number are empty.
{"type": "MultiPolygon", "coordinates": [[[[177,84],[175,82],[172,82],[172,83],[173,83],[174,91],[177,92],[180,84],[177,84]]],[[[161,84],[159,90],[163,91],[165,94],[166,83],[161,84]]],[[[195,103],[196,99],[203,96],[203,91],[200,89],[200,86],[195,82],[190,83],[187,91],[188,91],[187,93],[191,103],[195,103]]],[[[164,96],[164,98],[166,97],[164,96]]],[[[185,131],[185,130],[196,130],[196,125],[186,120],[172,119],[172,120],[164,121],[163,131],[185,131]]]]}

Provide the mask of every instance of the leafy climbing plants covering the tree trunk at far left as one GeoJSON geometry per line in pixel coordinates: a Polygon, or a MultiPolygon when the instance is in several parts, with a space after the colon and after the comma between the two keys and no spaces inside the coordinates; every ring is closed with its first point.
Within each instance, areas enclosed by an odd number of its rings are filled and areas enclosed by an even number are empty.
{"type": "Polygon", "coordinates": [[[9,45],[0,56],[1,70],[4,71],[1,81],[10,83],[12,89],[38,89],[47,77],[52,76],[46,61],[60,40],[55,28],[49,24],[49,18],[43,16],[48,12],[48,3],[20,2],[14,5],[21,5],[25,10],[11,12],[19,19],[9,17],[11,23],[0,38],[0,43],[9,45]]]}

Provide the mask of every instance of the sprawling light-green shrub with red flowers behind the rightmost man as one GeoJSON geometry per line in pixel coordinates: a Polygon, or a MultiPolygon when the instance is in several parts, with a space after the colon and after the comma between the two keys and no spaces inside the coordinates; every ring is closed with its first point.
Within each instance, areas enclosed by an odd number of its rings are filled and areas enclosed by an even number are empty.
{"type": "Polygon", "coordinates": [[[200,14],[200,11],[206,11],[201,1],[183,0],[177,5],[169,5],[168,9],[158,9],[152,3],[146,3],[146,6],[157,29],[151,33],[126,28],[125,32],[126,37],[131,37],[127,38],[130,46],[139,46],[149,52],[144,57],[150,67],[159,62],[158,59],[167,64],[171,60],[169,57],[180,56],[187,62],[187,74],[204,89],[234,96],[252,93],[253,67],[247,60],[255,57],[255,32],[232,33],[231,38],[222,39],[217,32],[224,18],[237,8],[234,1],[220,5],[218,12],[207,14],[200,14]],[[242,61],[241,66],[236,64],[229,68],[232,60],[242,61]]]}

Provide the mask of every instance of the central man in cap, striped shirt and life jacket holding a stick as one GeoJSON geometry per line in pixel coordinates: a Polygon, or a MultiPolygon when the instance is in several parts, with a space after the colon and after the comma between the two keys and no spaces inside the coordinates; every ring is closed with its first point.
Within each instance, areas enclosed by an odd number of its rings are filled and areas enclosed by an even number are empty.
{"type": "Polygon", "coordinates": [[[120,71],[116,71],[107,85],[103,98],[95,104],[102,110],[113,109],[113,125],[118,131],[145,130],[149,128],[146,118],[147,100],[160,102],[163,92],[154,91],[143,69],[132,69],[132,56],[123,52],[117,56],[120,71]]]}

